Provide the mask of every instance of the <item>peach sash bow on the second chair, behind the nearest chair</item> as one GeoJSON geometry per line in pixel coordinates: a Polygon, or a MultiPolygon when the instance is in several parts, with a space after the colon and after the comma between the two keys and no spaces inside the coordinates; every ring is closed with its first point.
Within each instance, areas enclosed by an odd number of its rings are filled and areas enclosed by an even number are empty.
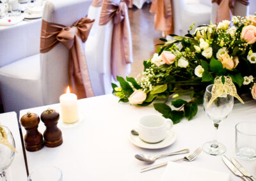
{"type": "Polygon", "coordinates": [[[112,19],[114,22],[111,43],[111,74],[115,80],[116,75],[126,76],[129,64],[132,63],[132,39],[127,4],[129,1],[115,4],[104,0],[100,12],[99,25],[106,25],[112,19]]]}

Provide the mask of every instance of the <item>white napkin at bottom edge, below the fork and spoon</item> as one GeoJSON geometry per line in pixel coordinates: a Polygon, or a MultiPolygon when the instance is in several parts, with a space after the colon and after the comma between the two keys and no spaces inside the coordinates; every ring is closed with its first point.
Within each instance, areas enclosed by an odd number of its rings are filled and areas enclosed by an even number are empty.
{"type": "Polygon", "coordinates": [[[205,168],[196,168],[189,166],[188,163],[174,163],[170,161],[166,166],[161,181],[228,181],[230,175],[220,171],[207,170],[205,168]]]}

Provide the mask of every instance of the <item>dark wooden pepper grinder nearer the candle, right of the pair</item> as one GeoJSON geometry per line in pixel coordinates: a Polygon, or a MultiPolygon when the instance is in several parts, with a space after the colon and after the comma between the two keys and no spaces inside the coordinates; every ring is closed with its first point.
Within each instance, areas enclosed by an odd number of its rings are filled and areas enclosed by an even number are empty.
{"type": "Polygon", "coordinates": [[[41,120],[46,129],[44,131],[44,143],[46,147],[58,147],[63,143],[61,130],[57,127],[60,114],[48,108],[41,114],[41,120]]]}

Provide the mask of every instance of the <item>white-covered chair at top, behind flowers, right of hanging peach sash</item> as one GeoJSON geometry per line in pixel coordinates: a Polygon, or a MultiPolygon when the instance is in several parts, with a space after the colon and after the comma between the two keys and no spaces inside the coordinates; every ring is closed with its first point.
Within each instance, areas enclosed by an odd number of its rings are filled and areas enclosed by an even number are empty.
{"type": "MultiPolygon", "coordinates": [[[[202,1],[204,2],[204,1],[202,1]]],[[[211,6],[209,3],[189,3],[184,0],[173,0],[174,33],[180,36],[188,33],[189,26],[195,23],[195,27],[209,24],[211,19],[211,6]]]]}

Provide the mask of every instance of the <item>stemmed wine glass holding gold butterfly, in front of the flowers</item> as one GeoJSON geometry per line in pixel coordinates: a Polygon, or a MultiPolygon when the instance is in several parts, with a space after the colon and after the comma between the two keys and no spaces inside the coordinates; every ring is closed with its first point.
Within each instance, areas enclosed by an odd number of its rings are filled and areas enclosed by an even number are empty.
{"type": "Polygon", "coordinates": [[[215,140],[204,143],[203,150],[207,154],[217,156],[223,154],[226,150],[225,146],[217,141],[218,127],[221,120],[225,119],[232,111],[234,97],[228,94],[222,94],[208,107],[207,105],[212,98],[212,86],[213,84],[208,85],[204,93],[204,111],[209,119],[212,120],[213,125],[216,128],[216,135],[215,140]]]}

